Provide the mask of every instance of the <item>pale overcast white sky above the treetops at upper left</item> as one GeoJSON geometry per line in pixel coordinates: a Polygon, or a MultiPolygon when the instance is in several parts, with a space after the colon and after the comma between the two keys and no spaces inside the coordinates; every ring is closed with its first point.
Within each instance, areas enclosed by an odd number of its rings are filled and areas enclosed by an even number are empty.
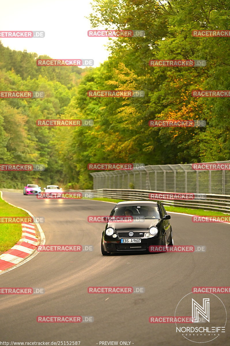
{"type": "MultiPolygon", "coordinates": [[[[93,59],[94,67],[107,60],[108,38],[88,37],[90,0],[10,0],[1,2],[0,31],[45,31],[44,38],[1,38],[17,51],[46,54],[53,59],[93,59]]],[[[98,29],[103,29],[100,27],[98,29]]]]}

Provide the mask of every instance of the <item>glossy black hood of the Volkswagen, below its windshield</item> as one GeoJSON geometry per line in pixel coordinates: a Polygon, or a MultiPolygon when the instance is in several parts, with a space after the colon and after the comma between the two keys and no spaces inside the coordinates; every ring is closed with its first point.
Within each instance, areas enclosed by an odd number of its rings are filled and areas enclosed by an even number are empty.
{"type": "Polygon", "coordinates": [[[149,229],[152,226],[156,226],[160,222],[160,219],[147,219],[144,221],[132,221],[132,222],[108,222],[106,228],[112,227],[115,231],[130,231],[131,229],[143,230],[149,229]]]}

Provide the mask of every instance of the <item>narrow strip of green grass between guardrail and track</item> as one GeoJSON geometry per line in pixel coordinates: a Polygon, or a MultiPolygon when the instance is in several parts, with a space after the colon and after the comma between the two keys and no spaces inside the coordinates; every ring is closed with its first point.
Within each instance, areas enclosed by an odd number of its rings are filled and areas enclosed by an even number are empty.
{"type": "MultiPolygon", "coordinates": [[[[112,198],[93,198],[93,200],[104,201],[104,202],[114,202],[114,203],[118,203],[122,201],[122,199],[112,199],[112,198]]],[[[165,209],[168,212],[174,211],[176,213],[193,214],[193,215],[201,215],[201,216],[218,216],[218,215],[230,216],[230,214],[222,213],[220,211],[211,211],[211,210],[204,210],[204,209],[169,207],[166,205],[165,205],[165,209]]]]}

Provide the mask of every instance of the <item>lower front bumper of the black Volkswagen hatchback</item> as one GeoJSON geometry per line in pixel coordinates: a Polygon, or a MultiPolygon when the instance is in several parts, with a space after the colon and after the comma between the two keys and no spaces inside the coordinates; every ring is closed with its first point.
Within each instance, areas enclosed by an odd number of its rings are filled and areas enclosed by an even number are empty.
{"type": "MultiPolygon", "coordinates": [[[[110,238],[111,239],[111,238],[110,238]]],[[[121,243],[121,239],[108,240],[108,237],[102,237],[104,251],[107,252],[122,252],[122,251],[142,251],[149,252],[148,248],[151,245],[162,245],[162,237],[158,238],[141,238],[141,243],[121,243]]]]}

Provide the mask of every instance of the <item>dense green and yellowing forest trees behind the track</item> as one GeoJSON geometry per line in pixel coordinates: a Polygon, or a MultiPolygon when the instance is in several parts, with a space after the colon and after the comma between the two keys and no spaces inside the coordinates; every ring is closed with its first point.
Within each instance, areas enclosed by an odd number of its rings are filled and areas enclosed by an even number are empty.
{"type": "Polygon", "coordinates": [[[0,187],[90,189],[88,163],[229,160],[229,98],[191,96],[192,90],[230,89],[230,37],[192,36],[196,29],[229,29],[229,8],[229,1],[219,0],[94,0],[92,28],[145,30],[145,37],[110,39],[108,61],[96,68],[37,66],[37,58],[50,57],[0,43],[0,90],[45,92],[43,99],[0,99],[1,164],[46,167],[1,172],[0,187]],[[151,59],[207,65],[153,67],[151,59]],[[145,97],[89,98],[88,90],[144,90],[145,97]],[[38,127],[37,119],[93,119],[94,125],[38,127]],[[207,125],[152,128],[151,119],[202,119],[207,125]]]}

